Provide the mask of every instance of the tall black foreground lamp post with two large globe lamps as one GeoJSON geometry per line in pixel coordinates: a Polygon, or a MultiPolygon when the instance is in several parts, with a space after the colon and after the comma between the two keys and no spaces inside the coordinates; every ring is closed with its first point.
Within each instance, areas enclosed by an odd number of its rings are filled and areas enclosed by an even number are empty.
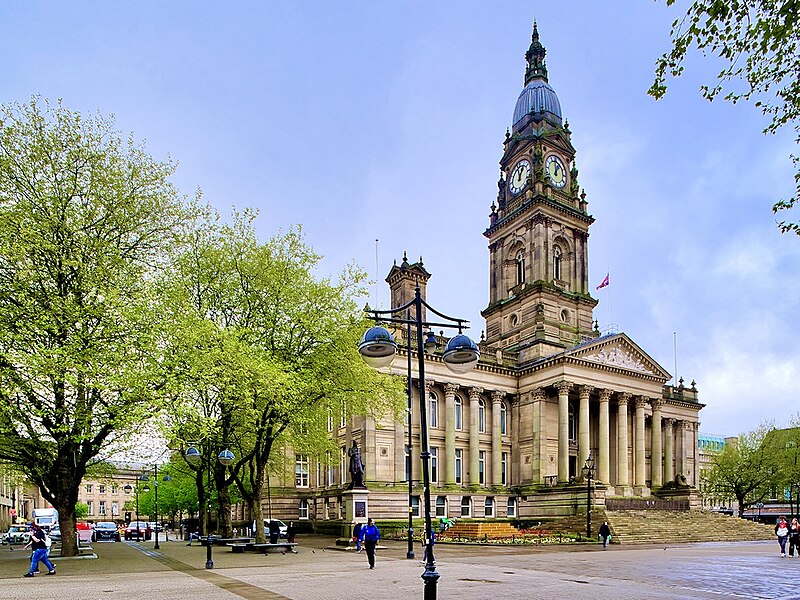
{"type": "MultiPolygon", "coordinates": [[[[425,389],[425,353],[423,352],[424,344],[422,340],[423,328],[429,327],[447,327],[458,329],[458,335],[452,337],[445,347],[442,358],[447,367],[454,373],[463,374],[469,372],[478,364],[480,359],[480,350],[478,346],[469,339],[466,335],[461,333],[462,329],[467,326],[467,321],[464,319],[456,319],[448,317],[440,313],[427,302],[422,299],[419,286],[417,286],[414,299],[410,302],[392,310],[370,310],[368,311],[376,322],[392,323],[397,325],[406,325],[410,334],[411,327],[417,329],[417,371],[419,377],[419,407],[420,407],[420,442],[422,451],[420,458],[422,459],[422,483],[423,495],[425,503],[425,572],[422,574],[424,581],[424,598],[425,600],[436,599],[436,585],[439,582],[439,573],[436,571],[436,561],[433,556],[433,525],[431,523],[431,492],[430,492],[430,448],[428,446],[428,420],[426,403],[427,393],[425,389]],[[436,316],[441,317],[446,322],[434,323],[426,322],[422,319],[423,306],[434,313],[436,316]],[[411,318],[411,309],[414,309],[414,317],[411,318]],[[395,317],[393,315],[402,315],[406,313],[406,318],[395,317]]],[[[408,361],[408,379],[409,390],[411,385],[411,336],[409,335],[409,361],[408,361]]],[[[369,366],[373,368],[388,367],[395,353],[397,352],[397,342],[394,336],[389,331],[380,325],[371,327],[361,338],[361,343],[358,345],[358,351],[361,357],[369,366]]],[[[410,422],[409,422],[410,430],[410,422]]],[[[409,447],[410,454],[410,447],[409,447]]],[[[409,477],[410,479],[410,477],[409,477]]],[[[409,482],[409,489],[411,485],[409,482]]],[[[411,503],[409,499],[409,511],[411,503]]],[[[410,517],[410,512],[409,512],[410,517]]],[[[409,518],[410,521],[410,518],[409,518]]],[[[410,529],[410,527],[409,527],[410,529]]]]}

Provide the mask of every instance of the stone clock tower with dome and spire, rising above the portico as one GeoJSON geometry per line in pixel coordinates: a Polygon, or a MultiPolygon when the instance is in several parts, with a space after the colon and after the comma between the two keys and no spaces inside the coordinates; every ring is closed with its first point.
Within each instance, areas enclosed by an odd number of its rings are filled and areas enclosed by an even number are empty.
{"type": "Polygon", "coordinates": [[[547,82],[536,24],[525,54],[525,88],[506,131],[497,202],[489,228],[489,348],[520,353],[520,363],[596,337],[588,284],[586,194],[575,148],[547,82]]]}

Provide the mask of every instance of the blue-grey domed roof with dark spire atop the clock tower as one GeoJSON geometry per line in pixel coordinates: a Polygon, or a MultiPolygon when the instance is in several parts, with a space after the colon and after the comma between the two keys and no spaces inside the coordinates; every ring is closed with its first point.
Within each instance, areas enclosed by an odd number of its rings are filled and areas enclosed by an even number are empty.
{"type": "Polygon", "coordinates": [[[546,53],[547,50],[539,41],[539,29],[534,21],[531,46],[525,53],[525,89],[517,98],[517,106],[514,108],[514,132],[527,125],[530,119],[525,117],[528,115],[532,115],[537,121],[544,118],[553,125],[561,125],[561,104],[555,90],[547,83],[547,66],[544,63],[546,53]]]}

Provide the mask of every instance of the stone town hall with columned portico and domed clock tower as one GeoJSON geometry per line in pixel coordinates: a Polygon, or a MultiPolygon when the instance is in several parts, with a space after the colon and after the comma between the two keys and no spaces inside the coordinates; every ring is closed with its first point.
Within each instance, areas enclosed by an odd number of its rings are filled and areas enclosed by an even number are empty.
{"type": "MultiPolygon", "coordinates": [[[[425,358],[431,503],[437,517],[536,518],[586,506],[583,466],[594,465],[593,502],[695,497],[699,484],[698,402],[692,383],[671,375],[624,333],[601,335],[589,287],[589,212],[576,150],[548,82],[536,25],[500,159],[497,199],[483,232],[489,302],[477,367],[445,368],[425,358]]],[[[386,281],[392,307],[431,277],[404,256],[386,281]]],[[[392,372],[406,375],[405,332],[392,372]]],[[[412,350],[412,378],[416,351],[412,350]]],[[[415,382],[416,383],[416,382],[415,382]]],[[[421,516],[418,390],[411,435],[404,421],[353,417],[329,422],[339,456],[298,456],[272,513],[285,519],[345,518],[347,450],[363,449],[369,516],[421,516]],[[411,447],[409,448],[409,439],[411,447]],[[409,456],[413,457],[409,460],[409,456]],[[410,471],[410,472],[409,472],[410,471]]],[[[273,482],[274,485],[274,482],[273,482]]]]}

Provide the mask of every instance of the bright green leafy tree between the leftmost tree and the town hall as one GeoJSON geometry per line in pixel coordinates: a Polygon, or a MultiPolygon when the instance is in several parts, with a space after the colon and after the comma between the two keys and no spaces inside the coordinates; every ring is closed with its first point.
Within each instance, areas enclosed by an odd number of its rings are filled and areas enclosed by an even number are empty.
{"type": "Polygon", "coordinates": [[[325,443],[329,411],[401,410],[402,382],[361,360],[365,330],[357,299],[365,275],[347,267],[338,281],[315,276],[320,257],[292,229],[260,243],[255,215],[201,228],[168,278],[189,396],[213,397],[209,432],[235,446],[236,462],[217,468],[217,489],[236,482],[264,539],[262,502],[273,450],[325,443]],[[221,487],[222,486],[222,487],[221,487]]]}

